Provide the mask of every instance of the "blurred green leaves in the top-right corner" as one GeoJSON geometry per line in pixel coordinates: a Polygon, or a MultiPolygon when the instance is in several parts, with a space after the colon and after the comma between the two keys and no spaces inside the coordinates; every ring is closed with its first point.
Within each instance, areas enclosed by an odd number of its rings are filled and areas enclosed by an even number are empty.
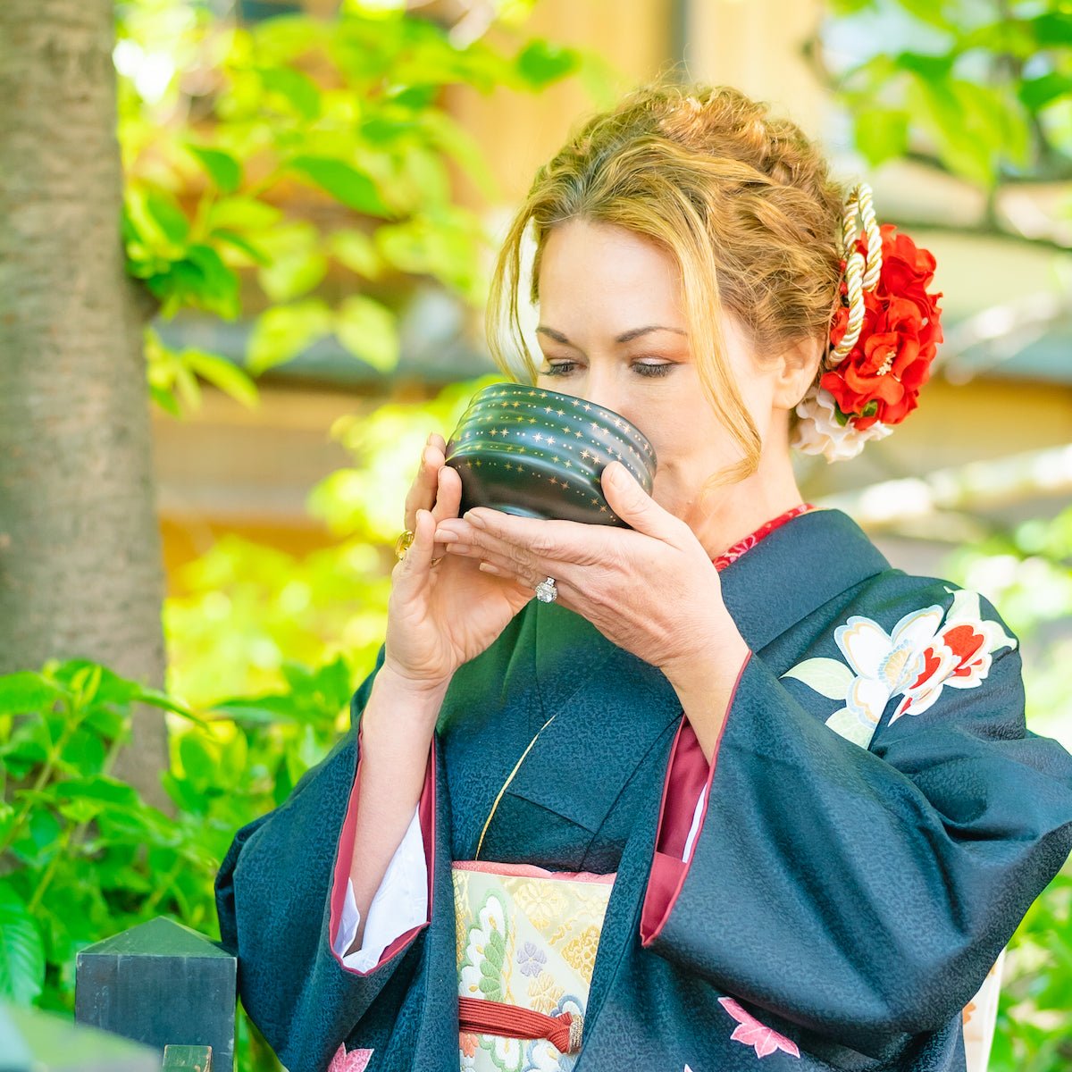
{"type": "Polygon", "coordinates": [[[1072,154],[1072,15],[1063,0],[837,0],[864,58],[836,72],[873,166],[908,152],[984,189],[1072,154]]]}

